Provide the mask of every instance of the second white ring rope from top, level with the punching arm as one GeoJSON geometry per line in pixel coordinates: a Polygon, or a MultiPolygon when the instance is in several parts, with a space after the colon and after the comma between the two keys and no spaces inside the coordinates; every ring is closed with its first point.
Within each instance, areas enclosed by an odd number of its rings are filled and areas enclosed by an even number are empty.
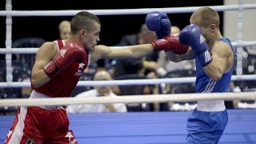
{"type": "MultiPolygon", "coordinates": [[[[242,46],[256,46],[256,41],[243,41],[242,46]]],[[[232,46],[237,47],[238,42],[232,42],[232,46]]],[[[114,49],[122,49],[127,46],[111,46],[114,49]]],[[[253,47],[254,48],[254,47],[253,47]]],[[[0,54],[36,54],[38,52],[38,47],[28,47],[28,48],[0,48],[0,54]]]]}

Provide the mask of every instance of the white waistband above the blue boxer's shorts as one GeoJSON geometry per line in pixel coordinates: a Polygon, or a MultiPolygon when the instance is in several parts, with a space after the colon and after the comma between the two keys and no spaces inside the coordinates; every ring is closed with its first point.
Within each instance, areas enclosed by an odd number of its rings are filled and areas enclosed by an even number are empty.
{"type": "Polygon", "coordinates": [[[197,110],[222,111],[222,110],[226,110],[226,106],[223,100],[201,100],[201,101],[198,101],[197,110]]]}

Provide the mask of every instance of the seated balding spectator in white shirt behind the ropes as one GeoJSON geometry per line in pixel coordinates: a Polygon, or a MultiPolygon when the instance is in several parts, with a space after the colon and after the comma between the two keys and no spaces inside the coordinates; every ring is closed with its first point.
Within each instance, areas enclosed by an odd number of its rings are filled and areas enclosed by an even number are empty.
{"type": "MultiPolygon", "coordinates": [[[[98,71],[94,75],[95,81],[110,81],[111,75],[107,71],[98,71]]],[[[93,90],[82,92],[75,98],[92,98],[92,97],[118,97],[111,90],[111,86],[95,86],[93,90]]],[[[103,113],[103,112],[126,112],[126,105],[123,103],[106,103],[106,104],[84,104],[70,105],[66,107],[67,113],[103,113]]]]}

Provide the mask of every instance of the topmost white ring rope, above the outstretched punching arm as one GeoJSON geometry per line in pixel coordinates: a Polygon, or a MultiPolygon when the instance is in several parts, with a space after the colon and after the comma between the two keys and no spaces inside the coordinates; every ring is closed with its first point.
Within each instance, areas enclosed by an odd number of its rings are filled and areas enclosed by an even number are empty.
{"type": "MultiPolygon", "coordinates": [[[[118,9],[118,10],[86,10],[96,15],[127,15],[127,14],[148,14],[152,11],[163,11],[167,14],[175,13],[192,13],[202,6],[175,7],[175,8],[143,8],[143,9],[118,9]]],[[[216,11],[238,10],[238,5],[228,6],[209,6],[216,11]]],[[[243,10],[252,10],[256,8],[256,4],[245,4],[243,10]]],[[[81,10],[2,10],[0,16],[8,14],[18,17],[27,16],[73,16],[81,10]]]]}

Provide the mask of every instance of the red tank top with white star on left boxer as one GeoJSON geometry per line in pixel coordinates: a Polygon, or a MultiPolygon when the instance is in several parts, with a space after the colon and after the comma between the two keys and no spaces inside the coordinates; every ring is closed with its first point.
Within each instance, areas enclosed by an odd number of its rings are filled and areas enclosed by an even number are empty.
{"type": "MultiPolygon", "coordinates": [[[[65,46],[65,42],[62,40],[54,41],[57,43],[58,51],[62,50],[62,47],[65,46]]],[[[56,77],[51,78],[50,82],[47,82],[45,85],[38,88],[32,89],[41,94],[46,94],[52,98],[60,97],[70,97],[70,94],[74,90],[74,87],[78,84],[79,78],[89,66],[90,63],[90,54],[86,50],[86,60],[82,63],[74,61],[70,66],[63,70],[62,73],[58,74],[56,77]]]]}

